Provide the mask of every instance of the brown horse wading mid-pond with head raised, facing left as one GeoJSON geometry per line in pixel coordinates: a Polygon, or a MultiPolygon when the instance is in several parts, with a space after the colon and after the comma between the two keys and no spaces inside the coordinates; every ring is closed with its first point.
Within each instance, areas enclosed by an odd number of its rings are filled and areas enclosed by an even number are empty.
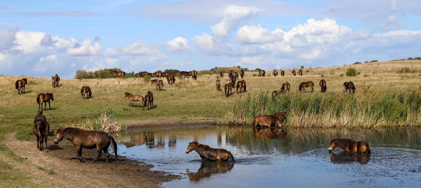
{"type": "Polygon", "coordinates": [[[226,149],[215,149],[211,148],[209,145],[200,144],[198,141],[189,142],[189,146],[187,146],[186,154],[190,153],[190,151],[195,150],[197,154],[200,155],[203,162],[206,161],[228,161],[229,159],[234,160],[234,156],[232,156],[231,152],[226,151],[226,149]]]}

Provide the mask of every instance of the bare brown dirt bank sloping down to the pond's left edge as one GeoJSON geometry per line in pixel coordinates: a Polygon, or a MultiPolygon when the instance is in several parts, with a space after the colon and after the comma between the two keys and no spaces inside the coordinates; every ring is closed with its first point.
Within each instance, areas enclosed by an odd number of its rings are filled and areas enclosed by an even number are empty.
{"type": "MultiPolygon", "coordinates": [[[[105,163],[103,155],[98,162],[92,163],[96,150],[83,149],[83,157],[87,162],[80,163],[76,158],[75,146],[70,141],[63,140],[59,145],[53,144],[53,136],[48,137],[48,149],[39,151],[36,148],[36,138],[31,141],[18,141],[14,133],[5,136],[5,145],[15,154],[25,159],[24,163],[5,159],[9,164],[21,171],[29,172],[35,184],[51,187],[159,187],[162,183],[178,178],[176,175],[166,175],[164,172],[149,170],[150,165],[119,156],[111,163],[105,163]],[[7,141],[7,142],[6,142],[7,141]],[[39,170],[53,169],[53,175],[39,170]]],[[[111,152],[110,152],[111,153],[111,152]]],[[[2,156],[2,158],[5,158],[2,156]]]]}

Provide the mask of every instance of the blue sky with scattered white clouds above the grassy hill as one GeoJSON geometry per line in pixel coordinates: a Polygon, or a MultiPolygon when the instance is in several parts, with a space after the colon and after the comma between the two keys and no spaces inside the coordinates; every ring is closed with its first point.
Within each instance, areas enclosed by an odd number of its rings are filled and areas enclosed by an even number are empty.
{"type": "Polygon", "coordinates": [[[266,70],[421,56],[419,0],[0,2],[0,74],[266,70]]]}

